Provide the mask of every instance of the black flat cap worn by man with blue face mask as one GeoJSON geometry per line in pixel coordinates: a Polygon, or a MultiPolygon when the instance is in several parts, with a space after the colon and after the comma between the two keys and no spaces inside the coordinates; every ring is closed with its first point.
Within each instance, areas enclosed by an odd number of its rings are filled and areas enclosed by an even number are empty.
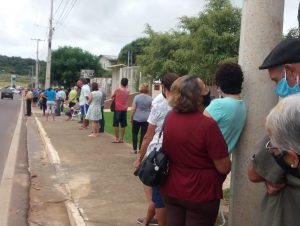
{"type": "Polygon", "coordinates": [[[279,42],[259,66],[259,69],[293,63],[300,63],[300,39],[298,38],[289,38],[279,42]]]}

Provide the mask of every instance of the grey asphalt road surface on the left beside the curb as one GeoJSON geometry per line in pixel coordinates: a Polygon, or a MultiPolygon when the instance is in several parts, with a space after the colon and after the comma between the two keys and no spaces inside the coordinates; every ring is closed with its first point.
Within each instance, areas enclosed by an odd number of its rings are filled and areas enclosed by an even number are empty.
{"type": "MultiPolygon", "coordinates": [[[[29,176],[27,161],[27,130],[26,117],[21,120],[19,140],[17,146],[16,163],[8,162],[8,154],[12,144],[22,100],[21,96],[14,94],[14,99],[0,99],[0,181],[3,177],[6,165],[14,166],[14,176],[11,196],[9,202],[3,204],[2,208],[9,208],[8,215],[2,216],[7,226],[26,226],[29,208],[29,176]]],[[[22,113],[23,114],[23,113],[22,113]]],[[[15,142],[13,142],[15,144],[15,142]]],[[[5,186],[4,186],[5,187],[5,186]]],[[[1,184],[1,193],[5,191],[1,184]]],[[[7,191],[6,191],[7,192],[7,191]]],[[[6,193],[5,192],[5,193],[6,193]]],[[[0,194],[3,197],[3,194],[0,194]]]]}

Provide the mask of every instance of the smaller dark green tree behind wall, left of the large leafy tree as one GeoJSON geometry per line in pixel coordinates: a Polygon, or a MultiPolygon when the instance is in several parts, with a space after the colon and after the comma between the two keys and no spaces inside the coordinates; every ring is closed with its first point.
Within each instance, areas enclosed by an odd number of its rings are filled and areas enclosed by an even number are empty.
{"type": "Polygon", "coordinates": [[[118,63],[127,64],[128,63],[128,52],[130,52],[130,64],[136,65],[136,57],[143,54],[143,49],[149,45],[148,38],[138,38],[135,41],[125,45],[118,56],[118,63]]]}

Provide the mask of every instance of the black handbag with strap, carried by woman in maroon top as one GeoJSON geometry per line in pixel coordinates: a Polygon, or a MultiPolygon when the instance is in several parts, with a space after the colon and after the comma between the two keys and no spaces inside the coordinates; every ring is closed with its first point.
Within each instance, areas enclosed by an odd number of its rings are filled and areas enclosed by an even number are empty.
{"type": "Polygon", "coordinates": [[[150,154],[142,161],[138,170],[138,176],[143,184],[152,187],[162,185],[169,174],[169,159],[166,154],[163,153],[162,146],[157,150],[157,144],[161,138],[165,121],[159,133],[156,145],[150,154]]]}

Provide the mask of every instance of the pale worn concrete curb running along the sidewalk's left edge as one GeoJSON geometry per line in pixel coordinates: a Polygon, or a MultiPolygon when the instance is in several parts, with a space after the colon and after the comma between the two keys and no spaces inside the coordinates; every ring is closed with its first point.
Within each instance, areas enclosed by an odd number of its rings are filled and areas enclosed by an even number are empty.
{"type": "Polygon", "coordinates": [[[70,224],[71,224],[71,226],[86,226],[86,223],[84,221],[84,218],[83,218],[79,208],[77,207],[77,205],[74,203],[74,201],[72,199],[72,194],[71,194],[69,185],[64,182],[65,176],[64,176],[64,173],[62,172],[62,167],[61,167],[61,162],[60,162],[58,152],[53,147],[53,145],[50,141],[50,138],[48,137],[46,131],[44,130],[40,120],[35,116],[34,113],[33,113],[33,115],[34,115],[34,119],[35,119],[35,122],[36,122],[36,125],[38,128],[39,134],[45,145],[46,153],[50,159],[50,163],[52,165],[54,165],[55,171],[56,171],[56,176],[57,176],[58,180],[60,181],[60,183],[65,188],[65,195],[66,195],[67,200],[64,202],[64,204],[65,204],[65,207],[68,212],[70,224]]]}

